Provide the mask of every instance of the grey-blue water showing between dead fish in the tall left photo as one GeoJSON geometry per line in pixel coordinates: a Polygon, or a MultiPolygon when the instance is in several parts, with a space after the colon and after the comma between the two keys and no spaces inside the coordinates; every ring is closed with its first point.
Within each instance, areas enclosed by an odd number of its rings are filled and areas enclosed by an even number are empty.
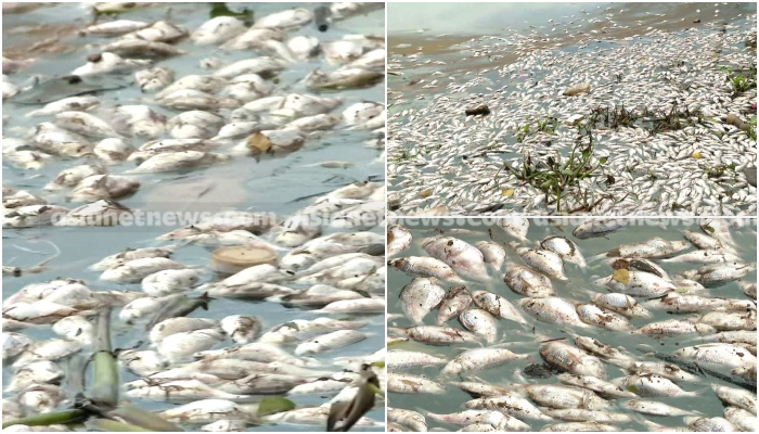
{"type": "MultiPolygon", "coordinates": [[[[247,8],[254,11],[256,17],[261,17],[273,12],[290,8],[303,7],[311,9],[314,3],[230,3],[233,10],[247,8]]],[[[156,3],[152,7],[140,8],[130,11],[121,18],[153,22],[156,20],[169,20],[190,31],[197,28],[209,18],[210,8],[207,3],[156,3]]],[[[309,24],[298,30],[287,33],[287,37],[295,35],[316,36],[322,42],[340,39],[344,35],[363,34],[382,36],[385,31],[385,11],[378,10],[365,15],[335,23],[329,31],[319,33],[313,24],[309,24]]],[[[3,15],[3,52],[34,43],[38,40],[40,26],[51,29],[68,28],[60,38],[61,51],[55,53],[34,53],[36,62],[21,69],[11,78],[16,85],[26,81],[33,75],[44,77],[60,76],[70,73],[86,62],[86,56],[98,52],[98,44],[110,41],[108,38],[80,37],[75,29],[85,28],[92,16],[88,8],[82,3],[60,3],[52,7],[40,8],[24,14],[3,15]],[[37,39],[36,39],[37,38],[37,39]]],[[[105,18],[107,20],[107,18],[105,18]]],[[[50,31],[46,35],[49,35],[50,31]]],[[[210,71],[200,66],[201,60],[218,58],[224,64],[256,55],[250,51],[222,52],[213,46],[197,47],[190,40],[177,44],[188,51],[186,55],[160,61],[157,64],[176,71],[177,79],[191,74],[211,74],[210,71]]],[[[307,90],[299,81],[311,71],[336,69],[338,65],[330,65],[323,59],[298,63],[288,67],[280,76],[280,93],[313,93],[307,90]]],[[[129,76],[128,78],[131,78],[129,76]]],[[[339,114],[349,105],[360,101],[384,101],[384,86],[376,85],[372,88],[330,92],[330,97],[339,95],[345,103],[334,113],[339,114]]],[[[180,112],[158,107],[150,103],[149,95],[142,94],[134,87],[105,92],[101,94],[101,107],[113,107],[116,104],[140,104],[145,102],[156,112],[172,117],[180,112]]],[[[2,107],[3,137],[20,138],[25,136],[29,128],[37,123],[49,122],[47,117],[24,117],[27,111],[37,106],[16,105],[5,102],[2,107]]],[[[95,115],[98,112],[93,112],[95,115]]],[[[168,137],[168,136],[166,136],[168,137]]],[[[366,131],[348,130],[340,128],[327,133],[316,135],[308,139],[303,150],[290,155],[256,161],[253,157],[236,156],[231,164],[215,166],[206,169],[193,170],[185,174],[151,174],[140,176],[142,186],[131,197],[119,201],[132,209],[146,212],[219,212],[222,209],[256,210],[275,213],[281,218],[286,218],[294,212],[312,203],[316,194],[333,191],[342,186],[372,178],[382,181],[384,168],[382,163],[373,163],[380,156],[380,151],[366,148],[362,144],[368,140],[366,131]],[[304,167],[325,161],[345,161],[353,163],[347,169],[332,169],[323,167],[304,167]],[[202,192],[205,192],[201,197],[202,192]]],[[[133,142],[136,146],[141,142],[133,142]]],[[[227,152],[223,146],[218,152],[227,152]]],[[[10,164],[2,165],[3,186],[25,189],[33,194],[42,195],[53,204],[68,206],[63,195],[47,195],[42,187],[52,180],[62,169],[74,165],[83,164],[81,161],[65,161],[53,158],[53,163],[42,170],[22,170],[10,164]]],[[[131,163],[124,163],[110,168],[111,174],[120,175],[131,169],[131,163]]],[[[72,204],[73,205],[73,204],[72,204]]],[[[73,207],[73,206],[72,206],[73,207]]],[[[21,278],[3,278],[3,298],[17,292],[26,284],[49,281],[57,277],[77,278],[87,281],[92,290],[131,290],[139,291],[139,284],[119,285],[99,281],[99,272],[90,271],[87,267],[103,257],[124,251],[127,247],[145,247],[162,245],[155,241],[155,237],[177,229],[182,225],[164,225],[152,227],[121,227],[121,228],[39,228],[2,231],[2,264],[26,268],[34,266],[48,257],[54,248],[40,240],[54,243],[61,251],[61,255],[49,264],[49,268],[39,275],[21,278]],[[29,252],[36,251],[38,253],[29,252]]],[[[382,228],[374,229],[383,233],[382,228]]],[[[326,233],[325,233],[326,234],[326,233]]],[[[185,246],[180,248],[172,258],[189,266],[208,269],[211,251],[198,246],[185,246]]],[[[204,282],[219,280],[219,277],[207,271],[204,282]]],[[[276,303],[240,303],[239,301],[215,301],[208,311],[195,311],[194,317],[220,319],[228,315],[242,314],[258,317],[263,323],[263,330],[293,319],[313,319],[318,316],[297,308],[285,308],[276,303]]],[[[335,317],[338,318],[338,317],[335,317]]],[[[382,316],[363,317],[370,321],[370,326],[362,329],[370,335],[365,341],[350,345],[344,350],[327,353],[320,360],[329,363],[333,357],[369,355],[384,346],[384,320],[382,316]]],[[[142,337],[143,332],[127,329],[117,323],[117,337],[114,346],[118,347],[136,342],[142,337]]],[[[53,333],[49,329],[29,332],[36,340],[50,339],[53,333]]],[[[224,345],[229,345],[226,343],[224,345]]],[[[336,368],[337,369],[337,368],[336,368]]],[[[3,382],[10,380],[10,367],[3,369],[3,382]]],[[[125,373],[123,382],[132,381],[136,378],[125,373]]],[[[3,394],[3,398],[8,398],[3,394]]],[[[303,396],[294,398],[298,406],[321,405],[325,398],[320,395],[303,396]]],[[[170,404],[158,404],[147,400],[138,400],[143,408],[160,410],[172,407],[170,404]]],[[[380,407],[368,413],[368,417],[383,421],[384,411],[380,407]]],[[[313,431],[313,426],[265,426],[265,431],[313,431]]],[[[255,430],[255,429],[253,429],[255,430]]],[[[357,429],[361,430],[361,429],[357,429]]],[[[373,429],[376,431],[377,429],[373,429]]]]}

